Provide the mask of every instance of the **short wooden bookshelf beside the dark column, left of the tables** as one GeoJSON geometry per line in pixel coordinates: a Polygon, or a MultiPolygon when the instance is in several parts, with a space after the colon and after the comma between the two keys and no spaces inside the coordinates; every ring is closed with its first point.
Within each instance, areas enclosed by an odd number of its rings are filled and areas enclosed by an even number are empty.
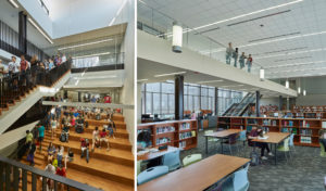
{"type": "Polygon", "coordinates": [[[188,150],[198,143],[198,124],[196,119],[166,120],[138,124],[137,131],[148,130],[152,135],[151,147],[171,145],[188,150]]]}

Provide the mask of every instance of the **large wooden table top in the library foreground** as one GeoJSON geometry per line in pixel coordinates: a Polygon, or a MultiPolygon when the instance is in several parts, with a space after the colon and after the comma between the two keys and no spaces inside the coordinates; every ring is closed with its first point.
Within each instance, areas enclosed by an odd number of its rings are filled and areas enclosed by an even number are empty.
{"type": "Polygon", "coordinates": [[[198,163],[180,168],[160,178],[138,186],[138,191],[204,190],[233,174],[250,160],[215,154],[198,163]]]}

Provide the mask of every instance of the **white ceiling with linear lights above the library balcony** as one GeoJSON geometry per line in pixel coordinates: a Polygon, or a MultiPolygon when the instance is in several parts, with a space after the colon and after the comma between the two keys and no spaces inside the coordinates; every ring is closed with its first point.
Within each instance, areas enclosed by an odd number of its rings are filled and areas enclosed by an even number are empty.
{"type": "MultiPolygon", "coordinates": [[[[326,74],[325,0],[138,1],[138,20],[147,21],[151,26],[167,33],[171,31],[172,18],[196,28],[235,16],[239,17],[200,28],[190,35],[220,27],[201,35],[224,47],[231,41],[234,47],[239,47],[240,52],[253,54],[254,65],[263,66],[267,78],[326,74]],[[269,9],[290,2],[293,3],[269,9]],[[148,7],[156,11],[152,12],[148,7]],[[239,16],[255,11],[260,12],[239,16]]],[[[199,40],[205,43],[202,38],[199,40]]],[[[202,51],[224,59],[224,47],[215,46],[210,51],[210,46],[202,46],[202,51]]]]}

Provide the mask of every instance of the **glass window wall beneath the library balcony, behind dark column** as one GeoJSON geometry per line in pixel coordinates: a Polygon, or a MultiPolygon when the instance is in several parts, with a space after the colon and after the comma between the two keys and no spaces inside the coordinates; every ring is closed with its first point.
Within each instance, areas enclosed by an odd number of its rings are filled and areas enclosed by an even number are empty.
{"type": "MultiPolygon", "coordinates": [[[[185,84],[184,92],[185,111],[211,110],[215,113],[215,87],[185,84]]],[[[233,103],[240,102],[242,94],[241,91],[218,89],[218,115],[222,115],[233,103]]],[[[174,82],[143,84],[141,113],[174,117],[174,82]]]]}

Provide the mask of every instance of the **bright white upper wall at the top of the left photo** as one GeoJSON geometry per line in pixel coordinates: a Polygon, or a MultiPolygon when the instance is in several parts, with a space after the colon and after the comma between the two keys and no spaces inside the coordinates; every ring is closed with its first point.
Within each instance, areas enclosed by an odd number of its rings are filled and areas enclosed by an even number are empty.
{"type": "Polygon", "coordinates": [[[49,1],[53,38],[61,38],[109,26],[124,0],[49,1]]]}

